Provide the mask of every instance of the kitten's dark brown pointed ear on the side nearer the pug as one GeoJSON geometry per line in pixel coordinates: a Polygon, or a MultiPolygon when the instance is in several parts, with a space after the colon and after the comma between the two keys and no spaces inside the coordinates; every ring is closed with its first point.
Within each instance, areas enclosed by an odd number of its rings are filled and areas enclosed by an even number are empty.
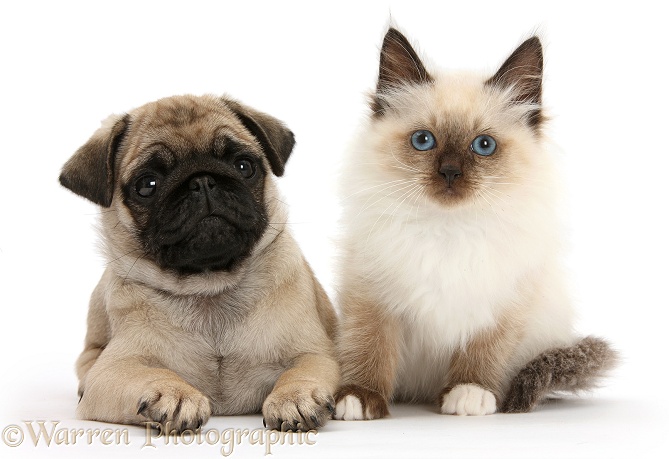
{"type": "Polygon", "coordinates": [[[397,29],[390,28],[383,39],[379,62],[379,80],[376,95],[372,100],[375,114],[383,114],[385,108],[383,94],[406,84],[429,83],[432,76],[427,73],[423,62],[409,40],[397,29]]]}

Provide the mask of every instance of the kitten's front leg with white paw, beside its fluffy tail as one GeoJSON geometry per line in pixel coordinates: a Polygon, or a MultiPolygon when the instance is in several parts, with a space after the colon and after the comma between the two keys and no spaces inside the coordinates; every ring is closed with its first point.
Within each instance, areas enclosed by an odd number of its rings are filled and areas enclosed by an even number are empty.
{"type": "Polygon", "coordinates": [[[442,414],[481,416],[497,411],[505,367],[518,343],[518,332],[503,321],[472,338],[451,357],[447,384],[439,395],[442,414]]]}

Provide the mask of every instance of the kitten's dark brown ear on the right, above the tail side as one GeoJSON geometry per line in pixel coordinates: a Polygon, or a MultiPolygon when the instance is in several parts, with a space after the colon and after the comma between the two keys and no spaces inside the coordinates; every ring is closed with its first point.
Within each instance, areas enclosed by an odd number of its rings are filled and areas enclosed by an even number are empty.
{"type": "Polygon", "coordinates": [[[532,127],[541,124],[541,80],[544,58],[539,38],[525,40],[502,64],[497,73],[486,84],[501,88],[512,88],[514,102],[537,104],[528,122],[532,127]]]}

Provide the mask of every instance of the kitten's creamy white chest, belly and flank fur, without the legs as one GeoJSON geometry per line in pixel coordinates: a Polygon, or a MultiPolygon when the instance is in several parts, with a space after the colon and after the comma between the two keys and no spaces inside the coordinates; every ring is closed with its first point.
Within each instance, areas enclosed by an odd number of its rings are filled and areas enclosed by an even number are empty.
{"type": "Polygon", "coordinates": [[[377,196],[364,213],[348,208],[346,245],[352,250],[345,264],[402,324],[396,397],[433,397],[444,385],[451,354],[504,314],[533,324],[518,365],[571,339],[570,304],[561,280],[552,278],[553,212],[540,196],[522,206],[513,199],[507,196],[497,208],[482,201],[445,211],[410,199],[390,206],[396,196],[377,196]],[[528,305],[527,284],[540,277],[546,283],[540,291],[551,297],[528,305]]]}

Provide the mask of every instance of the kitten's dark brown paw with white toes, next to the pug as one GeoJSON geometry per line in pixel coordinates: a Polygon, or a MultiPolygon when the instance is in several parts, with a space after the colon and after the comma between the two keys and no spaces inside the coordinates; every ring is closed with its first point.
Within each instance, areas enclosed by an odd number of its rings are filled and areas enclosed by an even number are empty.
{"type": "Polygon", "coordinates": [[[335,396],[335,419],[360,421],[388,416],[388,403],[376,391],[356,385],[340,388],[335,396]]]}

